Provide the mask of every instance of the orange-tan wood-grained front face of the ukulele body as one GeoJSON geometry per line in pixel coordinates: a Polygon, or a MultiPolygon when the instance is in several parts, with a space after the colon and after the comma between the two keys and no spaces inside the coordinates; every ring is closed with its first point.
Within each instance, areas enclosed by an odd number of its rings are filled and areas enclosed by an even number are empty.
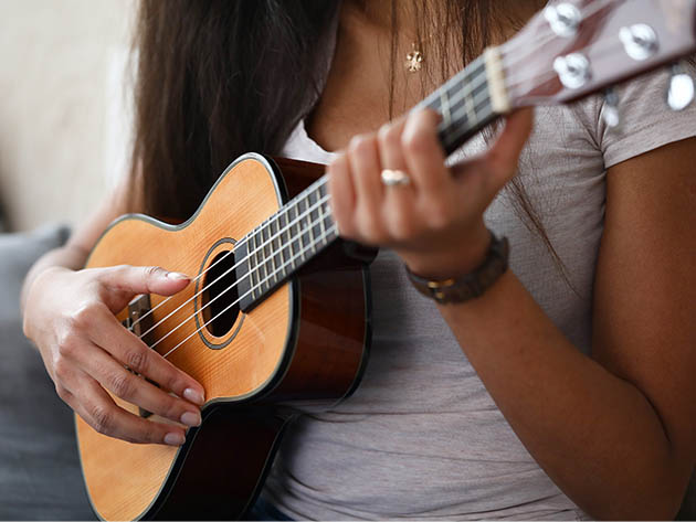
{"type": "MultiPolygon", "coordinates": [[[[211,245],[225,237],[243,237],[278,206],[276,188],[266,168],[259,161],[242,161],[219,181],[193,221],[170,227],[138,216],[123,219],[98,242],[87,266],[159,265],[196,276],[211,245]]],[[[188,300],[193,288],[190,285],[156,310],[155,321],[159,322],[188,300]]],[[[152,296],[152,306],[161,300],[152,296]]],[[[289,306],[286,284],[251,313],[238,318],[238,321],[243,319],[243,326],[224,350],[209,349],[194,334],[169,360],[203,385],[209,402],[249,396],[263,387],[278,366],[289,329],[289,306]]],[[[196,322],[190,320],[193,313],[193,303],[184,305],[157,327],[154,337],[159,339],[183,324],[157,347],[159,353],[166,353],[194,332],[196,322]]],[[[224,340],[224,337],[219,339],[224,340]]],[[[135,406],[116,401],[137,413],[135,406]]],[[[177,448],[116,440],[96,433],[80,417],[76,428],[85,481],[95,510],[107,520],[138,518],[155,500],[177,458],[177,448]]]]}

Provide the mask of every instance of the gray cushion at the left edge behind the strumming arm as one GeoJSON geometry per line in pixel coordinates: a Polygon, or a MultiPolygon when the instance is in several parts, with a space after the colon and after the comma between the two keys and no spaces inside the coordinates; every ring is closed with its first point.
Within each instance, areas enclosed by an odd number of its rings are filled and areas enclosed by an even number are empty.
{"type": "Polygon", "coordinates": [[[24,339],[19,313],[24,275],[67,233],[0,234],[0,520],[94,520],[72,413],[24,339]]]}

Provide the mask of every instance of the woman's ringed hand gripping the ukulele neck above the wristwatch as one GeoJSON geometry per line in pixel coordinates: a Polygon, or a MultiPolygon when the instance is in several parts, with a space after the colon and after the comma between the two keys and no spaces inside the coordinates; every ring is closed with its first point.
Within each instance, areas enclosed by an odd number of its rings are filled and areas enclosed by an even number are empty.
{"type": "Polygon", "coordinates": [[[466,274],[484,259],[491,236],[483,213],[517,171],[532,113],[509,116],[485,155],[451,168],[439,122],[433,110],[412,113],[355,137],[328,168],[341,237],[393,248],[413,273],[432,279],[466,274]],[[384,185],[384,169],[410,182],[384,185]]]}

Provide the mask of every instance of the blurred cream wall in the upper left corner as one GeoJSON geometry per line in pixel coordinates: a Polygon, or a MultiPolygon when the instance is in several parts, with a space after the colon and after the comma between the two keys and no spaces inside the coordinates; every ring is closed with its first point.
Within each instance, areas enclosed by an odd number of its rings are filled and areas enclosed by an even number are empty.
{"type": "Polygon", "coordinates": [[[123,175],[135,0],[0,0],[0,230],[74,225],[123,175]]]}

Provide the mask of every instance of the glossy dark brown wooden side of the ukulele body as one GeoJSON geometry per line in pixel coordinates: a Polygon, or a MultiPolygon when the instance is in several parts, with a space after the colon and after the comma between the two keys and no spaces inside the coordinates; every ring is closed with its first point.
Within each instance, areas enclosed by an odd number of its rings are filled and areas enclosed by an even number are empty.
{"type": "MultiPolygon", "coordinates": [[[[278,163],[291,198],[323,173],[312,163],[278,163]]],[[[207,408],[203,424],[187,439],[186,457],[177,461],[143,519],[243,518],[296,416],[292,405],[323,397],[330,406],[355,391],[371,338],[367,263],[375,253],[339,241],[298,273],[296,344],[282,381],[254,404],[207,408]],[[275,402],[284,406],[276,407],[275,402]]]]}

